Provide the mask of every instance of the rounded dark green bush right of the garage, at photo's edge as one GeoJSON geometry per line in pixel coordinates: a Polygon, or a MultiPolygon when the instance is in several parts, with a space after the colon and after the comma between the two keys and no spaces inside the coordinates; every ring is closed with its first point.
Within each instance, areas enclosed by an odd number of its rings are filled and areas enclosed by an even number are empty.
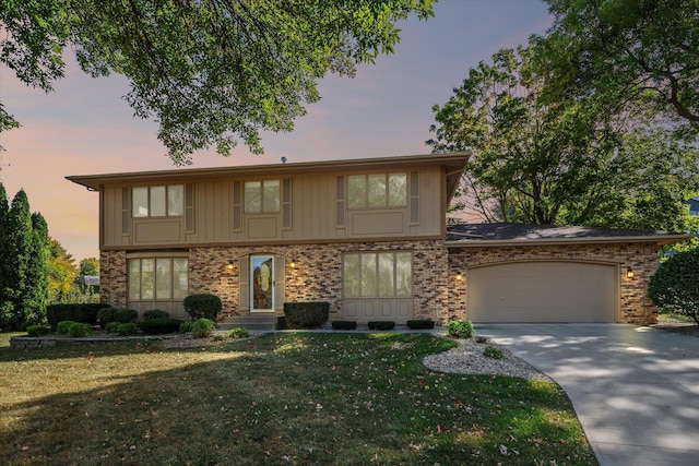
{"type": "Polygon", "coordinates": [[[659,308],[685,314],[699,325],[699,248],[663,262],[651,276],[648,296],[659,308]]]}

